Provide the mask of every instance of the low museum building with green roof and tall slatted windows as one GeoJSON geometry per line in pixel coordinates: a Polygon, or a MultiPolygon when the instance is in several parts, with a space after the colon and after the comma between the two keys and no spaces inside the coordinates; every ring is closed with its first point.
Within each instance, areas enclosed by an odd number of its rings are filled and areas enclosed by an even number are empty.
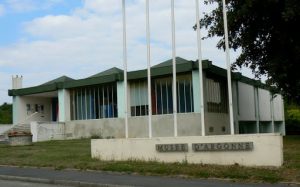
{"type": "MultiPolygon", "coordinates": [[[[197,61],[176,58],[178,136],[230,134],[226,70],[202,61],[205,129],[201,129],[200,82],[197,61]]],[[[148,137],[148,94],[151,94],[153,137],[174,136],[172,60],[128,72],[128,136],[148,137]]],[[[240,73],[232,73],[235,134],[285,134],[283,99],[268,87],[240,73]]],[[[63,124],[65,138],[125,137],[123,71],[111,68],[85,79],[63,76],[45,84],[9,90],[13,123],[63,124]]]]}

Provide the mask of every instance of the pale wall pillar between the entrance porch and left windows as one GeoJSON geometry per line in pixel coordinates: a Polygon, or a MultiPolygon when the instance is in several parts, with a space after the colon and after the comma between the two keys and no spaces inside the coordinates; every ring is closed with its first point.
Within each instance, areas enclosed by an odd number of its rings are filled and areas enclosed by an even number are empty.
{"type": "Polygon", "coordinates": [[[66,89],[58,90],[58,121],[65,122],[70,121],[70,91],[66,89]]]}

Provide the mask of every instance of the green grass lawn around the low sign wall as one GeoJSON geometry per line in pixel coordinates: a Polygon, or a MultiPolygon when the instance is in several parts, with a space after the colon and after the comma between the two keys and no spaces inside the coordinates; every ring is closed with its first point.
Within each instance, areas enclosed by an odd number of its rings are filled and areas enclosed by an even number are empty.
{"type": "Polygon", "coordinates": [[[91,158],[89,139],[39,142],[32,146],[19,147],[0,144],[0,165],[76,168],[196,178],[229,178],[251,182],[300,182],[300,136],[287,136],[283,140],[284,165],[281,168],[99,161],[91,158]]]}

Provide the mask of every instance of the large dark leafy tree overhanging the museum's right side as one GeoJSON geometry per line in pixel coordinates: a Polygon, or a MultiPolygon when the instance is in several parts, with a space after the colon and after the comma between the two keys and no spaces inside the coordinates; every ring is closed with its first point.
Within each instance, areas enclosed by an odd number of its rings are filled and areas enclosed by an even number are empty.
{"type": "MultiPolygon", "coordinates": [[[[300,104],[300,1],[226,1],[229,45],[242,51],[233,68],[249,67],[257,78],[266,75],[267,84],[300,104]]],[[[218,5],[200,20],[208,29],[205,38],[221,36],[217,47],[224,49],[222,0],[205,3],[218,5]]]]}

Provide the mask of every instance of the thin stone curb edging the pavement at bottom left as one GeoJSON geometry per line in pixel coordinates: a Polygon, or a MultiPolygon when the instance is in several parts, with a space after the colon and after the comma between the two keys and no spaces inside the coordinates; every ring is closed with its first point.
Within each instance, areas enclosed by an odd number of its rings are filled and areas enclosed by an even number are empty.
{"type": "Polygon", "coordinates": [[[19,176],[11,176],[11,175],[0,175],[0,179],[32,182],[32,183],[43,183],[43,184],[67,185],[67,186],[75,186],[75,187],[132,187],[126,185],[117,185],[117,184],[100,184],[100,183],[90,183],[90,182],[70,181],[70,180],[52,180],[52,179],[42,179],[42,178],[33,178],[33,177],[19,177],[19,176]]]}

